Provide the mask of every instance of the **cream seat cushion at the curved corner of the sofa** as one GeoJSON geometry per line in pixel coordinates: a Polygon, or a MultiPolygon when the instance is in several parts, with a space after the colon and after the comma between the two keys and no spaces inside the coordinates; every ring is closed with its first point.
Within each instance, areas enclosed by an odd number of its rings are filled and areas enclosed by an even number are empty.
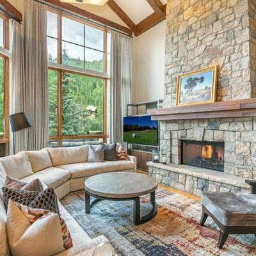
{"type": "Polygon", "coordinates": [[[25,182],[30,182],[33,179],[40,179],[42,183],[52,188],[57,188],[68,179],[70,179],[71,173],[68,170],[61,170],[60,168],[49,167],[45,170],[33,173],[24,179],[25,182]]]}

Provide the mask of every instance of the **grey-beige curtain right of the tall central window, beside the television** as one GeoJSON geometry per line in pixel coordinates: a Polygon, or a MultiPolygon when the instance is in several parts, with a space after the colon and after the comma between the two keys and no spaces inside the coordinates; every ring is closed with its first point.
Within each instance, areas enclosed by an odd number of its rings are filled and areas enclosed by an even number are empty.
{"type": "Polygon", "coordinates": [[[131,102],[132,38],[111,33],[110,127],[109,141],[123,141],[123,117],[131,102]]]}

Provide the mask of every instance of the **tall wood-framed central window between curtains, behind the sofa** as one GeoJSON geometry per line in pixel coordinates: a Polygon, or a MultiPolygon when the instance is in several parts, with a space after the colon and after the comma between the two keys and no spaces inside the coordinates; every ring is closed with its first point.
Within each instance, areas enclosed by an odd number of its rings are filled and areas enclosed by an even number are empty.
{"type": "Polygon", "coordinates": [[[49,10],[47,46],[49,146],[106,140],[108,29],[49,10]]]}

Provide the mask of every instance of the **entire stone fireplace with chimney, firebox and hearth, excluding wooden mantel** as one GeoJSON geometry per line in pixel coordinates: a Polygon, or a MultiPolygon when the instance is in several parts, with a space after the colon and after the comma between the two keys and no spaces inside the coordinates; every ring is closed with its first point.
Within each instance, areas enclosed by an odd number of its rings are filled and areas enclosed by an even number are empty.
{"type": "MultiPolygon", "coordinates": [[[[214,65],[217,102],[256,97],[255,1],[169,0],[166,12],[164,108],[175,107],[177,76],[214,65]]],[[[149,172],[194,195],[249,192],[244,178],[256,179],[255,116],[161,121],[160,150],[169,164],[148,163],[149,172]]]]}

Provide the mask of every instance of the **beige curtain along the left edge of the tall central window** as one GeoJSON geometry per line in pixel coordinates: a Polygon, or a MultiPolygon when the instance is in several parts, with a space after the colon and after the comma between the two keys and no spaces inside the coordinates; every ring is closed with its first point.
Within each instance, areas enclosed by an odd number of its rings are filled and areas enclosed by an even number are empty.
{"type": "Polygon", "coordinates": [[[33,0],[24,2],[24,61],[26,113],[32,127],[28,129],[28,149],[47,147],[48,74],[47,74],[47,6],[33,0]]]}

